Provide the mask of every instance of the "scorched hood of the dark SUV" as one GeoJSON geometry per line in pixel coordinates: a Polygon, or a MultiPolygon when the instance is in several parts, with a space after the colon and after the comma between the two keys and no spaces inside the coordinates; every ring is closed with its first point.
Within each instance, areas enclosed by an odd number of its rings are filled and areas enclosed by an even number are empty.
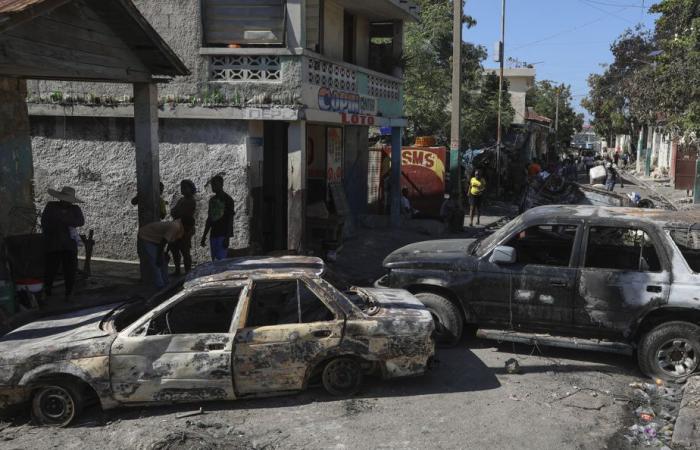
{"type": "Polygon", "coordinates": [[[453,264],[469,257],[469,246],[476,239],[441,239],[409,244],[393,251],[384,259],[384,267],[430,266],[453,264]]]}

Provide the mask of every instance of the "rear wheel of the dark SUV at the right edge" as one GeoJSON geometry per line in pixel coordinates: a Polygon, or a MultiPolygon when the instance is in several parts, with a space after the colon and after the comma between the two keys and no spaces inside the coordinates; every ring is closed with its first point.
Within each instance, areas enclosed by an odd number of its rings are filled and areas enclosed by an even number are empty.
{"type": "Polygon", "coordinates": [[[639,368],[652,378],[680,381],[700,368],[700,327],[667,322],[646,333],[637,350],[639,368]]]}

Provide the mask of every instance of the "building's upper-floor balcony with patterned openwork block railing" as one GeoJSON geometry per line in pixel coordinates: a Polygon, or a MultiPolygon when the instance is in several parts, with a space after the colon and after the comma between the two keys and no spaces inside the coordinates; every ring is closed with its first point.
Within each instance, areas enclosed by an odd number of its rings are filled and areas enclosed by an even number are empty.
{"type": "MultiPolygon", "coordinates": [[[[204,48],[210,87],[246,104],[295,104],[316,113],[399,118],[403,81],[308,50],[204,48]],[[242,93],[242,94],[241,94],[242,93]]],[[[354,123],[354,122],[353,122],[354,123]]]]}

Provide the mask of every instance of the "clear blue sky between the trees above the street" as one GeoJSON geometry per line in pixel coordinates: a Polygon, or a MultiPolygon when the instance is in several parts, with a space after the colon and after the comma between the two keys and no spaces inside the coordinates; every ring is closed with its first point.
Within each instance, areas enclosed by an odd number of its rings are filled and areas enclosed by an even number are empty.
{"type": "MultiPolygon", "coordinates": [[[[465,14],[477,24],[465,27],[462,39],[485,46],[489,57],[484,66],[497,67],[493,53],[500,38],[501,1],[465,1],[465,14]]],[[[639,23],[653,29],[656,15],[648,12],[653,3],[657,1],[506,0],[506,61],[511,57],[534,64],[538,80],[571,85],[574,106],[585,113],[580,102],[588,93],[588,75],[612,62],[610,44],[625,29],[639,23]]]]}

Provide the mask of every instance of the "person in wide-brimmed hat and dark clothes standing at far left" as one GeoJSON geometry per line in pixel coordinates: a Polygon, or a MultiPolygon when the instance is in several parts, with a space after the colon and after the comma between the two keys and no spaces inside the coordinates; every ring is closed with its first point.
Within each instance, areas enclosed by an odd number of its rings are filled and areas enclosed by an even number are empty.
{"type": "Polygon", "coordinates": [[[58,201],[46,204],[41,214],[41,231],[44,235],[45,273],[44,292],[51,296],[53,280],[59,266],[63,267],[65,300],[70,301],[78,272],[78,232],[77,227],[85,225],[83,211],[77,203],[83,203],[75,196],[75,189],[64,186],[60,191],[49,189],[49,195],[58,201]]]}

